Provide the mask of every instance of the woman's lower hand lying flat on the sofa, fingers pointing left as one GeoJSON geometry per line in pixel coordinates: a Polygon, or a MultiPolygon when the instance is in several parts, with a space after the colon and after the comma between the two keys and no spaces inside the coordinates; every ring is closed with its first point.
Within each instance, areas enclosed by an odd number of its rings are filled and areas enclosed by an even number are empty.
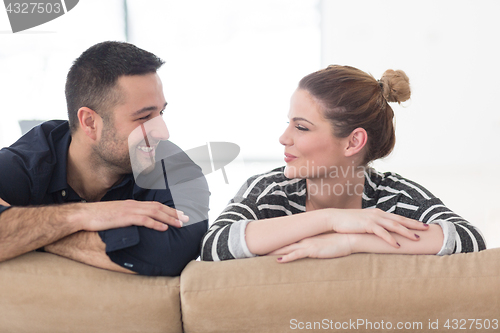
{"type": "Polygon", "coordinates": [[[285,263],[302,258],[338,258],[352,253],[349,234],[329,233],[305,238],[282,247],[269,255],[280,255],[278,262],[285,263]]]}

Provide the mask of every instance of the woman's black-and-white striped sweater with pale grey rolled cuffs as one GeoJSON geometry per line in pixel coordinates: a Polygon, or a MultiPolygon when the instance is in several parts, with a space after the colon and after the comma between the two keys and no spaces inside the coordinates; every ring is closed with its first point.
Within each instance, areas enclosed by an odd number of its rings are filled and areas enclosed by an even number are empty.
{"type": "MultiPolygon", "coordinates": [[[[284,167],[253,176],[215,220],[202,240],[201,259],[219,261],[255,256],[246,245],[245,228],[252,220],[306,211],[306,180],[286,178],[284,167]]],[[[424,223],[441,226],[444,242],[438,255],[486,248],[481,232],[447,208],[422,186],[372,168],[364,171],[362,208],[379,208],[424,223]]],[[[324,188],[335,192],[335,188],[324,188]]],[[[352,191],[353,189],[351,189],[352,191]]]]}

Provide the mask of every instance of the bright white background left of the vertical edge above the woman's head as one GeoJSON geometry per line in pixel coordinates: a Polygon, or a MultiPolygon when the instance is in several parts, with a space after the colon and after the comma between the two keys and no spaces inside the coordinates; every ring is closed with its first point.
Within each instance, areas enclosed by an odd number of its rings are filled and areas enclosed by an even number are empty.
{"type": "MultiPolygon", "coordinates": [[[[128,0],[130,42],[166,61],[164,119],[184,149],[229,141],[240,156],[207,176],[211,221],[249,176],[284,164],[278,142],[289,98],[320,67],[317,0],[128,0]],[[274,160],[268,162],[267,160],[274,160]]],[[[124,40],[122,0],[82,0],[66,15],[12,34],[0,8],[0,147],[20,119],[66,119],[64,82],[89,46],[124,40]]]]}

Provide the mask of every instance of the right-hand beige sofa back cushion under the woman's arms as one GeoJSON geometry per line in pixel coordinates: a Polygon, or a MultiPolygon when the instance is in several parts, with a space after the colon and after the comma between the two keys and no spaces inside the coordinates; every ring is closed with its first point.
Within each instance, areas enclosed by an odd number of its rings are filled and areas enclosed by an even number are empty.
{"type": "Polygon", "coordinates": [[[276,257],[191,262],[181,274],[185,332],[451,332],[463,320],[467,329],[477,325],[468,319],[488,320],[495,331],[499,291],[500,249],[286,264],[276,257]],[[436,324],[438,330],[429,329],[436,324]]]}

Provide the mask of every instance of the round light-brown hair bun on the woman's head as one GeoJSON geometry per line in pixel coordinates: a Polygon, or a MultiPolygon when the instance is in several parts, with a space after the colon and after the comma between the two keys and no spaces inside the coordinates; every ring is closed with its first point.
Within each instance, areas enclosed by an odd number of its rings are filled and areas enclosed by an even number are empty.
{"type": "Polygon", "coordinates": [[[386,70],[379,82],[388,102],[401,103],[410,99],[410,79],[402,70],[386,70]]]}

